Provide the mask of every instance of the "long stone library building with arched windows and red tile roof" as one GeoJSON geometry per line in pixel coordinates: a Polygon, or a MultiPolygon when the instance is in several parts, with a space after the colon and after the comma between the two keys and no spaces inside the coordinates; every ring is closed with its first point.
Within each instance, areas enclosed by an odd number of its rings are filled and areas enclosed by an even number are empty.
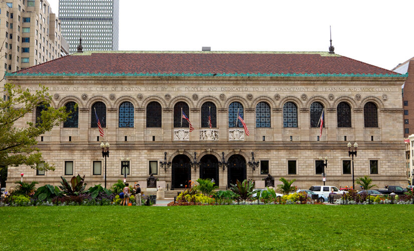
{"type": "MultiPolygon", "coordinates": [[[[378,187],[406,185],[406,75],[333,51],[85,51],[7,79],[32,91],[45,85],[52,107],[73,112],[38,138],[56,169],[10,167],[7,187],[22,172],[39,186],[77,174],[88,186],[153,174],[173,190],[198,178],[225,189],[267,174],[303,189],[323,177],[352,186],[364,175],[378,187]]],[[[35,122],[41,110],[17,126],[35,122]]]]}

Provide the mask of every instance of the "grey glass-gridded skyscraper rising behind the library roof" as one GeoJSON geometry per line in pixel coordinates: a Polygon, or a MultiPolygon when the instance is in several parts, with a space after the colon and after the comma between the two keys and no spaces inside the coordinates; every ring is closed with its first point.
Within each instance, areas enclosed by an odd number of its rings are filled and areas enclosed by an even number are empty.
{"type": "Polygon", "coordinates": [[[59,0],[59,19],[70,53],[81,32],[84,50],[118,50],[119,0],[59,0]]]}

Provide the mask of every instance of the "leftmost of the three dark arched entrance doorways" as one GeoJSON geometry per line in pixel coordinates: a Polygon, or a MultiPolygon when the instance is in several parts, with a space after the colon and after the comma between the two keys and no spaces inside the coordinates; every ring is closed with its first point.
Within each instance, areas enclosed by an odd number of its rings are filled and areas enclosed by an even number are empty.
{"type": "Polygon", "coordinates": [[[191,180],[190,159],[185,155],[177,155],[172,163],[171,190],[185,188],[191,180]]]}

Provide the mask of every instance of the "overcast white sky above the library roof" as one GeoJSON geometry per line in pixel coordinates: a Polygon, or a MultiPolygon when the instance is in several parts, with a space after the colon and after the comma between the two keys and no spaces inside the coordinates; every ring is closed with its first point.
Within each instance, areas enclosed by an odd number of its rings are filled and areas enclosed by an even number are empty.
{"type": "Polygon", "coordinates": [[[412,0],[119,2],[119,50],[328,51],[331,25],[339,55],[385,69],[414,57],[412,0]]]}

